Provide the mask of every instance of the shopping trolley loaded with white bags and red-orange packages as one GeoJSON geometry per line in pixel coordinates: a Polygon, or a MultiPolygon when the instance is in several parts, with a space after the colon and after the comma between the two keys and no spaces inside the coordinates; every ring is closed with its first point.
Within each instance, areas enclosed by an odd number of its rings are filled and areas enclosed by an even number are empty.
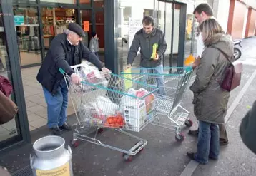
{"type": "MultiPolygon", "coordinates": [[[[81,65],[73,66],[79,69],[81,65]]],[[[72,146],[78,140],[85,140],[123,153],[124,160],[132,160],[132,155],[142,151],[147,140],[127,131],[139,132],[156,117],[158,88],[138,81],[132,81],[114,73],[101,73],[102,78],[82,76],[81,84],[72,83],[71,78],[61,69],[69,88],[69,95],[77,117],[72,146]],[[86,135],[89,127],[96,127],[94,138],[86,135]],[[138,140],[129,150],[107,145],[97,139],[100,129],[109,128],[138,140]]]]}

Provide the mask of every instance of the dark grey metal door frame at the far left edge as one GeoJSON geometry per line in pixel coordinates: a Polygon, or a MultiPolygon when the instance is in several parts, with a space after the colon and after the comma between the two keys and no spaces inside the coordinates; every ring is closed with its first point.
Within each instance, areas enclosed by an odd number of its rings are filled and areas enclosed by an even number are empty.
{"type": "Polygon", "coordinates": [[[16,141],[11,145],[10,140],[16,140],[15,137],[9,138],[3,141],[4,144],[8,145],[3,149],[0,149],[0,153],[8,152],[14,148],[20,147],[26,143],[31,143],[31,136],[29,130],[29,121],[26,114],[26,102],[24,97],[23,83],[21,78],[21,67],[19,64],[19,49],[16,40],[16,31],[14,26],[14,13],[12,0],[1,0],[1,9],[3,13],[4,31],[6,32],[6,49],[9,56],[9,64],[11,68],[11,77],[14,87],[14,97],[16,105],[19,107],[16,118],[17,130],[20,130],[21,140],[16,141]]]}

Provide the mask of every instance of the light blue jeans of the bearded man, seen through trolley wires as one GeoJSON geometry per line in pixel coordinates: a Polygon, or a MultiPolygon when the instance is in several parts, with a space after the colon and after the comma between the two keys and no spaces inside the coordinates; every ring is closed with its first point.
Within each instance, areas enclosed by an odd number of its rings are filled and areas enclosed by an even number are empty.
{"type": "MultiPolygon", "coordinates": [[[[157,83],[157,87],[159,88],[158,90],[158,95],[162,95],[165,96],[165,88],[164,88],[164,76],[162,75],[162,73],[164,73],[164,69],[162,68],[162,65],[157,66],[155,68],[144,68],[142,67],[140,70],[140,73],[144,73],[146,74],[145,76],[143,76],[142,78],[142,83],[147,83],[149,80],[152,81],[152,78],[155,78],[155,81],[157,83]],[[148,78],[147,73],[153,73],[153,76],[149,76],[150,78],[148,78]],[[149,79],[149,80],[148,80],[149,79]]],[[[151,84],[151,83],[149,83],[151,84]]]]}

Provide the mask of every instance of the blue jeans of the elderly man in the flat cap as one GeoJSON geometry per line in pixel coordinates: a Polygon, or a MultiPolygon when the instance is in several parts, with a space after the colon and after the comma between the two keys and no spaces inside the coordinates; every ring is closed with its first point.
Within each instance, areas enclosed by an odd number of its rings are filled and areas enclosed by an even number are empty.
{"type": "Polygon", "coordinates": [[[62,126],[67,120],[68,88],[64,80],[61,81],[55,95],[51,95],[43,87],[44,97],[47,103],[48,127],[62,126]]]}

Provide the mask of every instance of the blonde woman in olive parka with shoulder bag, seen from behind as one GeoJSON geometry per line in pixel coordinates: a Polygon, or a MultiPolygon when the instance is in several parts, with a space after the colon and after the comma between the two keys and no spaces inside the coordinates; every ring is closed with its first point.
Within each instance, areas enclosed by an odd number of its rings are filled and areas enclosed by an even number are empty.
{"type": "Polygon", "coordinates": [[[197,152],[188,152],[192,159],[206,164],[208,159],[218,160],[219,127],[225,123],[230,93],[220,87],[225,68],[232,61],[233,42],[218,22],[207,19],[199,26],[205,44],[195,82],[190,86],[194,93],[194,113],[199,121],[197,152]],[[230,61],[228,61],[230,60],[230,61]]]}

